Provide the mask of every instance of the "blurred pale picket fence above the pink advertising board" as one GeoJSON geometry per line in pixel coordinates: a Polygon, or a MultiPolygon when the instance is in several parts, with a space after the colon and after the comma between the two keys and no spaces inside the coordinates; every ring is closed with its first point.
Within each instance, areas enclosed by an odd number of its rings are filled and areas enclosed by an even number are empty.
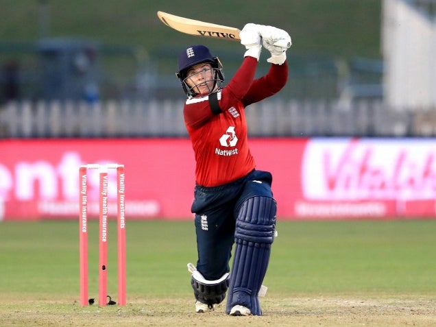
{"type": "MultiPolygon", "coordinates": [[[[269,99],[246,110],[251,136],[435,136],[436,113],[393,110],[382,101],[269,99]]],[[[10,102],[3,138],[184,137],[182,101],[10,102]]]]}

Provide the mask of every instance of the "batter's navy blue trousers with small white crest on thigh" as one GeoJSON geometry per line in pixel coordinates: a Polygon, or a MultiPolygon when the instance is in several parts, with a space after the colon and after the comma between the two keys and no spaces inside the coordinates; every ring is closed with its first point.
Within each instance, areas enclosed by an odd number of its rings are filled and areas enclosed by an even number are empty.
{"type": "Polygon", "coordinates": [[[272,176],[254,170],[234,182],[215,187],[195,186],[192,213],[197,235],[197,270],[207,280],[217,280],[230,271],[237,213],[254,196],[273,197],[272,176]]]}

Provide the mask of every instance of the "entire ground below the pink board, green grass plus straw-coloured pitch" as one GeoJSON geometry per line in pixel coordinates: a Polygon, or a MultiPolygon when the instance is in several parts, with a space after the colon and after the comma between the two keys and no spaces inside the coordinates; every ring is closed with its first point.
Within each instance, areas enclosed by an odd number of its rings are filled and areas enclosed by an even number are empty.
{"type": "MultiPolygon", "coordinates": [[[[97,221],[89,229],[97,298],[97,221]]],[[[116,226],[108,293],[117,300],[116,226]]],[[[193,313],[191,221],[128,221],[125,307],[80,307],[77,221],[0,223],[0,326],[436,326],[436,220],[279,221],[262,317],[193,313]],[[274,325],[273,325],[274,324],[274,325]]]]}

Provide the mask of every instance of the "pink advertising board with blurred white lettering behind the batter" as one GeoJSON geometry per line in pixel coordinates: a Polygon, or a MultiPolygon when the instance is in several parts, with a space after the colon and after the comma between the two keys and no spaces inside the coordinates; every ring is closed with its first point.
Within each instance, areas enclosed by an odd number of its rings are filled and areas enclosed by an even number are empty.
{"type": "MultiPolygon", "coordinates": [[[[436,216],[432,139],[253,138],[257,168],[273,173],[278,219],[436,216]]],[[[194,157],[186,138],[0,141],[0,219],[78,216],[78,167],[125,165],[128,219],[191,219],[194,157]]],[[[225,173],[225,172],[223,172],[225,173]]],[[[89,173],[90,216],[98,175],[89,173]]],[[[114,213],[115,175],[109,173],[114,213]]]]}

